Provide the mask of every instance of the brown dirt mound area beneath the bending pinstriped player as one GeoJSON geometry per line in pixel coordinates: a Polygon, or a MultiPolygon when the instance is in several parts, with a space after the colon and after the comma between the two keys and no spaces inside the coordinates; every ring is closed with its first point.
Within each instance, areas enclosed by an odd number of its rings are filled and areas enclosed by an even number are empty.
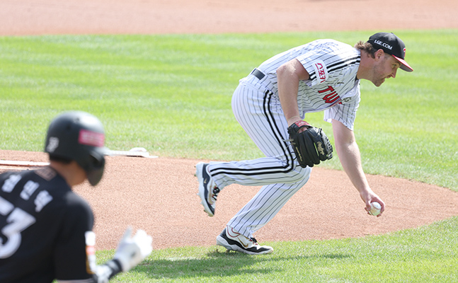
{"type": "MultiPolygon", "coordinates": [[[[1,158],[47,161],[46,154],[28,151],[1,151],[1,158]]],[[[74,189],[93,207],[98,249],[115,248],[128,225],[153,235],[156,249],[212,246],[227,221],[260,188],[226,187],[218,197],[217,213],[210,218],[196,195],[197,160],[110,156],[107,161],[97,187],[84,183],[74,189]]],[[[360,237],[458,215],[457,192],[379,175],[367,178],[387,202],[382,217],[365,213],[344,172],[317,167],[309,183],[256,236],[262,241],[360,237]]]]}

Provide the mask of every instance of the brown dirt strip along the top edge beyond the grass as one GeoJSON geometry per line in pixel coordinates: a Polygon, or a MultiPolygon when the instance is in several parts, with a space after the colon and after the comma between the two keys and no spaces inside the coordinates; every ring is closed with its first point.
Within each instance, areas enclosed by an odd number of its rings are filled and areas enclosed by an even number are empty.
{"type": "Polygon", "coordinates": [[[0,35],[458,28],[455,0],[4,0],[0,35]]]}

